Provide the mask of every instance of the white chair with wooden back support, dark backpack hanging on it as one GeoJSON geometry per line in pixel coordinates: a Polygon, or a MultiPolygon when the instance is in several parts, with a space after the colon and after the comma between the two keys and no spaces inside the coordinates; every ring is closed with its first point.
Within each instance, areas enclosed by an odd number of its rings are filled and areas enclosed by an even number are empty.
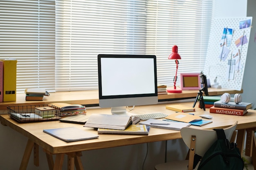
{"type": "MultiPolygon", "coordinates": [[[[236,125],[238,121],[228,128],[224,128],[225,135],[229,141],[234,142],[236,138],[236,125]]],[[[155,166],[155,170],[192,170],[194,154],[204,156],[204,153],[217,140],[215,130],[197,129],[184,127],[180,130],[182,139],[186,146],[189,147],[189,159],[184,161],[171,161],[161,163],[155,166]]],[[[199,165],[199,163],[198,163],[199,165]]],[[[195,170],[198,168],[196,166],[195,170]]]]}

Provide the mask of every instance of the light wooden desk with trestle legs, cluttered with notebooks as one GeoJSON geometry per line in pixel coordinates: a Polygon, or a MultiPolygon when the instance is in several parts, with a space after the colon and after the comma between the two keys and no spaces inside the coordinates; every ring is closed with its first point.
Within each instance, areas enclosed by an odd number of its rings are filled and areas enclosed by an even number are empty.
{"type": "MultiPolygon", "coordinates": [[[[182,103],[187,106],[192,106],[193,102],[182,103]]],[[[136,114],[145,114],[145,113],[153,113],[153,112],[162,112],[166,114],[172,114],[174,111],[168,110],[165,108],[166,104],[157,104],[150,106],[136,106],[131,113],[136,114]]],[[[87,109],[87,114],[93,113],[104,113],[110,114],[110,109],[87,109]]],[[[209,110],[206,111],[196,108],[195,115],[201,114],[210,114],[213,116],[213,123],[207,124],[202,127],[193,126],[196,128],[204,128],[204,129],[213,129],[213,128],[226,128],[235,121],[238,121],[237,129],[238,129],[238,144],[240,148],[243,148],[243,137],[245,136],[245,132],[252,133],[256,128],[256,110],[249,110],[247,115],[245,116],[234,116],[234,115],[222,115],[222,114],[213,114],[209,113],[209,110]]],[[[51,128],[62,128],[62,127],[70,127],[75,126],[77,128],[81,128],[88,132],[97,134],[97,131],[93,128],[85,128],[82,125],[78,124],[68,124],[68,123],[60,123],[59,121],[47,121],[47,122],[30,122],[30,123],[18,123],[17,121],[8,117],[8,115],[0,115],[1,124],[5,126],[9,126],[14,130],[20,132],[22,135],[28,138],[27,146],[25,148],[25,153],[20,164],[20,170],[25,170],[27,167],[28,159],[31,154],[32,149],[34,148],[34,153],[37,155],[38,146],[42,147],[47,155],[47,160],[49,164],[50,170],[58,170],[62,167],[64,154],[68,155],[68,161],[70,161],[69,169],[74,169],[74,165],[77,170],[82,170],[81,166],[81,151],[83,150],[93,150],[100,148],[110,148],[116,146],[126,146],[132,144],[141,144],[153,141],[164,141],[170,139],[180,139],[180,131],[176,130],[167,130],[160,128],[151,128],[148,136],[140,136],[140,135],[99,135],[99,139],[91,139],[85,141],[76,141],[67,143],[65,141],[61,141],[51,135],[48,135],[43,132],[43,129],[51,129],[51,128]],[[36,128],[35,128],[36,127],[36,128]],[[56,154],[56,160],[54,162],[52,155],[56,154]]],[[[255,153],[255,137],[254,135],[249,135],[249,144],[247,155],[252,155],[255,153]],[[254,147],[252,147],[254,146],[254,147]]],[[[35,155],[34,164],[38,165],[38,157],[35,155]]],[[[254,159],[253,159],[254,160],[254,159]]],[[[254,161],[256,163],[256,161],[254,161]]],[[[255,166],[254,166],[255,167],[255,166]]]]}

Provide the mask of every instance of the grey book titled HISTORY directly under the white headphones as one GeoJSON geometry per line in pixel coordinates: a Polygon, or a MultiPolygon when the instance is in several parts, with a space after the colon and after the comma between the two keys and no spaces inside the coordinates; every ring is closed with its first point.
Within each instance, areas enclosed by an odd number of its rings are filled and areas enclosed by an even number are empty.
{"type": "Polygon", "coordinates": [[[214,107],[247,110],[252,107],[252,103],[246,103],[246,102],[241,102],[239,104],[236,104],[235,102],[224,103],[221,100],[219,100],[217,102],[214,102],[214,107]]]}

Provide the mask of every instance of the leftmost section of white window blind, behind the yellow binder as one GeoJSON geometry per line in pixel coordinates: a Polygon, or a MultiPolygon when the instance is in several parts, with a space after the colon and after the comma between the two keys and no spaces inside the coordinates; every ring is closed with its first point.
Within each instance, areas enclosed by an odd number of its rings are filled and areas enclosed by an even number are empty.
{"type": "Polygon", "coordinates": [[[54,0],[0,1],[0,59],[15,58],[17,92],[54,90],[54,0]]]}

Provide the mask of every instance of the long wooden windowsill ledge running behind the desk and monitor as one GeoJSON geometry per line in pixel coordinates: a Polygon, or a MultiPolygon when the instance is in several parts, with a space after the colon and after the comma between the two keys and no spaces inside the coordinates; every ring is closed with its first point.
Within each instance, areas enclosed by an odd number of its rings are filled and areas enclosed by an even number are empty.
{"type": "MultiPolygon", "coordinates": [[[[168,89],[168,88],[167,88],[168,89]]],[[[227,88],[208,88],[209,95],[222,95],[223,93],[243,93],[243,90],[236,91],[227,88]]],[[[175,99],[194,98],[198,94],[198,90],[182,91],[182,93],[168,93],[167,95],[159,95],[159,101],[168,101],[175,99]]],[[[72,91],[72,92],[56,92],[45,96],[43,101],[26,101],[25,93],[17,94],[15,102],[0,103],[0,110],[6,110],[7,106],[25,106],[25,105],[41,105],[53,102],[64,102],[69,104],[96,105],[99,104],[99,94],[97,90],[92,91],[72,91]]]]}

